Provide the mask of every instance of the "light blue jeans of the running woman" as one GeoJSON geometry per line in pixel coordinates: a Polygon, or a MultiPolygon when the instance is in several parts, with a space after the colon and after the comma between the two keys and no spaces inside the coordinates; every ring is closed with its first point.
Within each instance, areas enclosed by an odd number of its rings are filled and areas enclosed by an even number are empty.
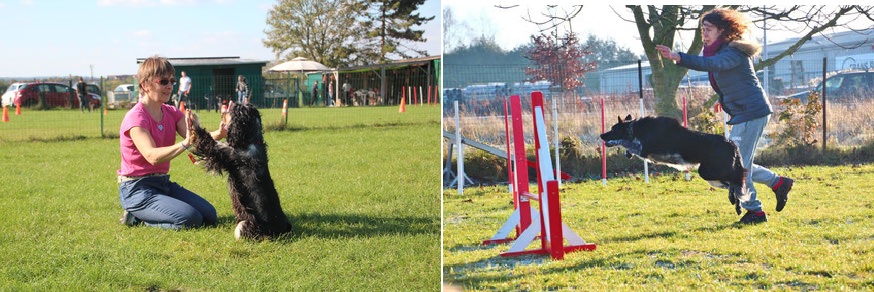
{"type": "Polygon", "coordinates": [[[761,140],[762,133],[765,131],[765,126],[768,125],[770,119],[771,115],[767,115],[734,125],[728,134],[729,139],[737,144],[744,168],[747,170],[745,181],[747,189],[745,194],[740,197],[740,205],[744,209],[755,212],[762,211],[762,201],[756,198],[756,187],[753,183],[763,183],[768,185],[768,187],[773,187],[779,179],[779,176],[770,169],[753,163],[753,158],[756,156],[756,148],[759,146],[759,140],[761,140]]]}

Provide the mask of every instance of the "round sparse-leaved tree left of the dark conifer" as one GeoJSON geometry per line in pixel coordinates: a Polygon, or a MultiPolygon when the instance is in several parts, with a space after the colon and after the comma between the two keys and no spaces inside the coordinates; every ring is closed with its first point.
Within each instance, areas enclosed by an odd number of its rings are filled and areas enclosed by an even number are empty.
{"type": "Polygon", "coordinates": [[[268,13],[263,43],[277,59],[306,57],[328,67],[360,62],[359,9],[354,0],[280,0],[268,13]]]}

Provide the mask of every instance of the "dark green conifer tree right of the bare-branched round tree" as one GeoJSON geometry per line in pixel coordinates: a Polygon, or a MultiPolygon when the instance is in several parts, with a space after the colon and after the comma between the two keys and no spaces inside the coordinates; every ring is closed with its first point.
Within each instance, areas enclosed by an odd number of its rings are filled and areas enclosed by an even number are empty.
{"type": "Polygon", "coordinates": [[[381,61],[390,55],[400,58],[425,56],[424,50],[405,45],[405,42],[425,42],[424,30],[414,29],[434,19],[425,17],[416,10],[425,0],[363,0],[367,3],[363,27],[370,41],[367,47],[381,61]]]}

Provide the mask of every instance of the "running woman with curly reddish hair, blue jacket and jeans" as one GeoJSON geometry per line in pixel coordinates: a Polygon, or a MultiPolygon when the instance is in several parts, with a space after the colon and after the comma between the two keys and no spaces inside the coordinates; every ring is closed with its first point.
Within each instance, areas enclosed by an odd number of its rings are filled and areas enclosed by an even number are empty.
{"type": "Polygon", "coordinates": [[[657,45],[663,58],[692,70],[706,71],[710,86],[719,95],[719,103],[731,116],[729,138],[737,144],[747,170],[746,192],[740,197],[741,207],[747,213],[740,219],[744,224],[767,222],[762,211],[762,202],[756,197],[753,182],[771,187],[777,197],[777,212],[782,211],[788,200],[794,181],[773,171],[753,164],[756,146],[765,126],[771,118],[771,104],[765,96],[753,69],[753,58],[761,52],[761,46],[743,40],[749,21],[732,9],[713,9],[701,17],[701,35],[704,39],[703,56],[672,52],[670,48],[657,45]]]}

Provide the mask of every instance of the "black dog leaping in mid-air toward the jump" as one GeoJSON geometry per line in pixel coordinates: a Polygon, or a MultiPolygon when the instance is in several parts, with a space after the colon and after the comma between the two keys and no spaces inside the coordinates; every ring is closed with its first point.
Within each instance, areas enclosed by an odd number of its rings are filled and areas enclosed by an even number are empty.
{"type": "Polygon", "coordinates": [[[692,131],[676,119],[644,117],[632,120],[619,117],[610,131],[601,134],[608,147],[622,146],[626,155],[678,170],[698,167],[702,179],[715,187],[727,188],[728,199],[740,215],[738,198],[746,191],[746,170],[734,142],[725,137],[692,131]]]}

